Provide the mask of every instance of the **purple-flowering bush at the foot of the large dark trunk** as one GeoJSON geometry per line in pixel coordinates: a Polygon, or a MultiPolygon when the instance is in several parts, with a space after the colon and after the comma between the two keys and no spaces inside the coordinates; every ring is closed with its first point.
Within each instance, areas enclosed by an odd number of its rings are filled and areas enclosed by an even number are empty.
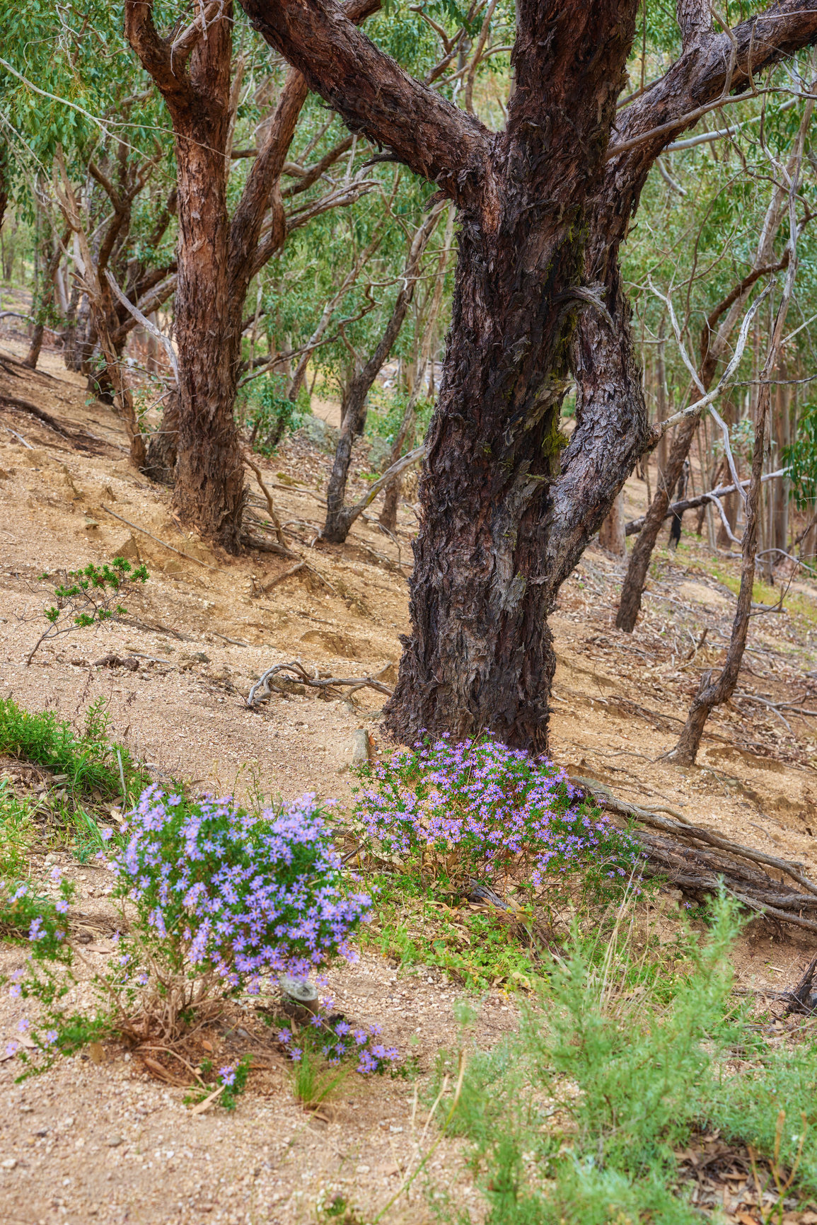
{"type": "Polygon", "coordinates": [[[581,870],[585,887],[604,895],[637,861],[633,839],[581,800],[563,771],[488,739],[452,744],[443,735],[359,775],[367,848],[409,870],[534,889],[581,870]]]}

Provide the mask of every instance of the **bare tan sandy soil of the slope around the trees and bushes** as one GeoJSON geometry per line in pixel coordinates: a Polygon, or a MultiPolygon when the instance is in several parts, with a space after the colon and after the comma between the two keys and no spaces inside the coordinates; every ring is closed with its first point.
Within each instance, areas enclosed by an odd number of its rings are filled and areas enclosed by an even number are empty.
{"type": "MultiPolygon", "coordinates": [[[[23,353],[22,344],[2,339],[0,356],[23,353]]],[[[0,692],[78,723],[105,697],[113,734],[159,779],[184,777],[202,790],[238,794],[260,785],[284,799],[315,791],[347,802],[355,729],[365,726],[376,748],[388,751],[382,699],[372,690],[345,702],[274,695],[258,712],[244,699],[263,669],[292,659],[337,676],[396,666],[398,636],[408,630],[410,506],[401,508],[394,538],[374,519],[359,521],[345,545],[312,546],[329,457],[301,434],[293,436],[261,464],[278,514],[294,533],[293,548],[312,568],[274,583],[293,562],[217,556],[181,532],[169,491],[129,467],[113,410],[88,402],[83,383],[51,353],[37,374],[0,369],[0,692]],[[26,666],[50,590],[38,581],[42,572],[116,555],[142,560],[151,572],[129,599],[125,622],[45,643],[26,666]],[[94,666],[107,654],[135,655],[138,670],[94,666]]],[[[365,448],[356,466],[353,496],[365,489],[365,448]]],[[[250,488],[260,512],[260,491],[250,488]]],[[[627,517],[643,512],[646,486],[631,480],[626,501],[627,517]]],[[[785,611],[753,622],[741,696],[708,724],[698,764],[681,769],[660,760],[677,737],[701,671],[723,659],[737,575],[735,559],[713,557],[685,533],[677,554],[657,551],[644,614],[625,636],[614,626],[622,566],[598,548],[588,550],[551,622],[559,655],[552,757],[622,799],[669,804],[737,842],[799,860],[813,877],[817,728],[790,712],[784,723],[767,703],[808,704],[815,693],[817,588],[796,579],[785,611]]],[[[37,783],[11,774],[23,789],[37,783]]],[[[56,860],[80,886],[77,905],[94,933],[88,956],[104,958],[113,952],[114,921],[105,877],[67,853],[56,860]]],[[[44,880],[47,872],[43,862],[33,865],[34,876],[44,880]]],[[[677,927],[676,907],[671,892],[654,900],[666,941],[677,927]]],[[[761,992],[790,986],[815,943],[805,932],[753,922],[735,948],[737,982],[761,992]]],[[[4,944],[0,973],[22,957],[4,944]]],[[[401,968],[372,944],[356,965],[332,971],[331,986],[350,1018],[381,1024],[390,1044],[416,1054],[423,1101],[437,1054],[456,1049],[453,1005],[464,989],[435,968],[401,968]]],[[[516,1024],[519,996],[510,986],[496,982],[470,995],[480,1045],[516,1024]]],[[[16,1036],[20,1016],[4,996],[0,1045],[16,1036]]],[[[241,1049],[266,1050],[263,1031],[249,1016],[213,1041],[232,1058],[241,1049]]],[[[318,1194],[338,1191],[371,1219],[397,1189],[413,1126],[425,1117],[418,1110],[412,1122],[410,1080],[354,1074],[322,1115],[305,1115],[276,1052],[252,1073],[230,1116],[190,1117],[184,1091],[149,1076],[124,1050],[104,1051],[102,1062],[64,1061],[22,1085],[13,1083],[12,1066],[0,1062],[0,1215],[9,1225],[314,1220],[318,1194]]],[[[457,1142],[442,1143],[427,1172],[439,1191],[479,1218],[457,1142]]],[[[390,1219],[420,1221],[429,1213],[419,1180],[390,1219]]]]}

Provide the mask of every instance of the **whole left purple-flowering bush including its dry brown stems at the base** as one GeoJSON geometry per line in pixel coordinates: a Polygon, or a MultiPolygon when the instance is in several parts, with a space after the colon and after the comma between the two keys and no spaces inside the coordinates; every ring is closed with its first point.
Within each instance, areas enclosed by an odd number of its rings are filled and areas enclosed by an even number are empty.
{"type": "MultiPolygon", "coordinates": [[[[306,976],[353,958],[349,937],[371,899],[343,875],[315,796],[255,813],[229,797],[191,800],[153,785],[124,828],[110,867],[127,935],[94,979],[93,1020],[64,1007],[81,951],[42,908],[32,916],[32,953],[12,992],[39,1001],[44,1025],[31,1038],[48,1056],[105,1029],[173,1040],[194,1018],[258,992],[265,976],[306,976]]],[[[67,894],[45,905],[67,909],[67,894]]]]}

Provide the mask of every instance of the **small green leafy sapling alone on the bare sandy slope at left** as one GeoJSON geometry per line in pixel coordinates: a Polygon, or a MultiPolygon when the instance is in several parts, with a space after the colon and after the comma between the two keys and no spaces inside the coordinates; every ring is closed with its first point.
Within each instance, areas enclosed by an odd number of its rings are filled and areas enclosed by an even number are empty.
{"type": "MultiPolygon", "coordinates": [[[[94,566],[88,562],[85,570],[62,571],[61,581],[54,587],[56,604],[43,610],[48,625],[32,647],[26,663],[31,664],[37,650],[49,638],[124,616],[127,609],[120,604],[120,599],[135,584],[146,583],[148,578],[145,566],[131,566],[125,557],[114,557],[110,565],[94,566]]],[[[43,573],[40,579],[49,582],[51,576],[43,573]]]]}

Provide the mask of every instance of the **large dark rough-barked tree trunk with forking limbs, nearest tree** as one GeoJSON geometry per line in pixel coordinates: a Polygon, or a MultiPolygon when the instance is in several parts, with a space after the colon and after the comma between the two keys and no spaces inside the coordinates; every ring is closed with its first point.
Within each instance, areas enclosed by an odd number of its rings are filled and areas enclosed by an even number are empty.
{"type": "Polygon", "coordinates": [[[519,0],[516,88],[505,132],[491,134],[399,69],[333,0],[243,0],[353,131],[459,207],[412,637],[387,707],[399,739],[489,730],[546,747],[548,611],[650,443],[619,245],[655,157],[730,72],[745,86],[750,50],[759,71],[817,37],[810,2],[788,0],[737,27],[732,56],[703,6],[682,0],[681,59],[616,118],[638,0],[519,0]],[[577,428],[562,453],[572,342],[577,428]]]}

